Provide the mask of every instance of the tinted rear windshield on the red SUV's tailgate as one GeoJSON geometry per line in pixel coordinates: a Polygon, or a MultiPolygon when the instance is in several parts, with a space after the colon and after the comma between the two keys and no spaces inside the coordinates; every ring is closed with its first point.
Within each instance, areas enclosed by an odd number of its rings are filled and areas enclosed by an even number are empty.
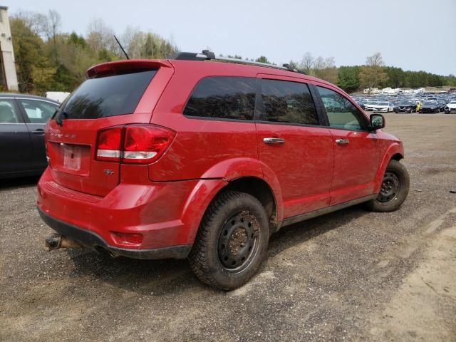
{"type": "Polygon", "coordinates": [[[97,119],[131,114],[156,70],[91,78],[63,103],[69,119],[97,119]]]}

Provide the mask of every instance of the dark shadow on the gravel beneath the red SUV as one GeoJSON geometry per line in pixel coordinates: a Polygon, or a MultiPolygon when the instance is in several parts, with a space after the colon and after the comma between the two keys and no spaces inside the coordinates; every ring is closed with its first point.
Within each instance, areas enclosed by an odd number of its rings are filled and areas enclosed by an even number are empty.
{"type": "MultiPolygon", "coordinates": [[[[344,224],[350,224],[365,214],[368,212],[361,205],[357,205],[284,227],[271,237],[268,258],[344,224]]],[[[75,266],[70,276],[93,276],[119,289],[138,294],[153,293],[158,296],[188,291],[195,287],[219,293],[202,285],[193,276],[186,260],[137,260],[124,257],[113,259],[107,253],[84,249],[68,249],[68,254],[75,266]]]]}

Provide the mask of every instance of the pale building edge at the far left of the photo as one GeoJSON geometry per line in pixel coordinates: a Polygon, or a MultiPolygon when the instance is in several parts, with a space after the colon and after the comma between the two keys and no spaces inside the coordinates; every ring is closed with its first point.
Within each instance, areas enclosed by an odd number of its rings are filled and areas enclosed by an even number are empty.
{"type": "Polygon", "coordinates": [[[4,90],[17,91],[19,88],[14,66],[13,39],[6,6],[0,6],[0,51],[0,85],[4,90]]]}

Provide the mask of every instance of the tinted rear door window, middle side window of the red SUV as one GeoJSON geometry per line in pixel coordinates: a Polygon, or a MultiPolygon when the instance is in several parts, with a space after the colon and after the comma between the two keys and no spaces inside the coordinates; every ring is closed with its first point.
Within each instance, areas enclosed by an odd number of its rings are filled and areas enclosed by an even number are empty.
{"type": "Polygon", "coordinates": [[[314,100],[306,83],[261,79],[264,118],[274,123],[318,125],[314,100]]]}

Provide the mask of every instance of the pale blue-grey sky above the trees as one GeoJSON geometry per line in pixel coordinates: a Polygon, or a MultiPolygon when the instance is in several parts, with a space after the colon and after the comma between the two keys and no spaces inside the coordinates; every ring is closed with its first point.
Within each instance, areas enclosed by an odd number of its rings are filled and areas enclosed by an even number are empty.
{"type": "Polygon", "coordinates": [[[379,51],[388,66],[456,74],[456,0],[312,1],[4,1],[19,9],[58,11],[63,31],[86,34],[101,18],[121,34],[138,26],[170,38],[182,51],[209,46],[286,63],[306,51],[334,57],[337,66],[363,64],[379,51]]]}

